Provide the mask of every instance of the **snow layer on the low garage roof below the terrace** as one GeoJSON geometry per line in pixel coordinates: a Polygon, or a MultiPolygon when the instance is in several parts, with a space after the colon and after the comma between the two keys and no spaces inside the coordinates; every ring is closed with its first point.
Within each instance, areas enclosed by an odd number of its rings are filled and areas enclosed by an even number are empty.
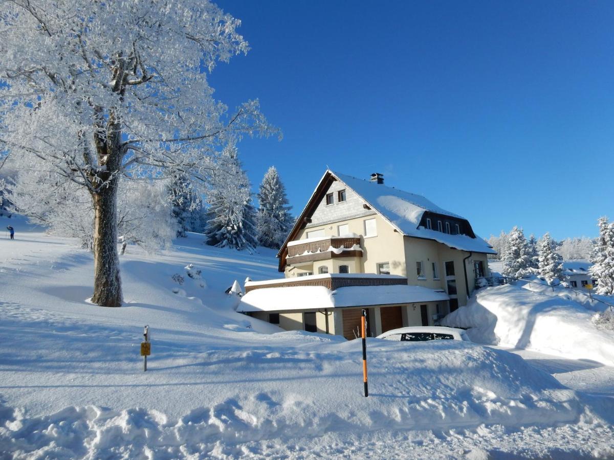
{"type": "MultiPolygon", "coordinates": [[[[379,276],[379,275],[378,275],[379,276]]],[[[238,312],[322,310],[363,305],[410,304],[448,300],[443,291],[422,286],[349,286],[330,291],[324,286],[262,288],[241,297],[238,312]]]]}

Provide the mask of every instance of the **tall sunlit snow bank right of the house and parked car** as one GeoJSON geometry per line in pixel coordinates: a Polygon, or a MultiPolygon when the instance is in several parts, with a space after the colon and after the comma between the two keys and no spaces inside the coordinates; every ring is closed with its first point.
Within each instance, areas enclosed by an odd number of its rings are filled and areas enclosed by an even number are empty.
{"type": "Polygon", "coordinates": [[[614,366],[614,334],[596,328],[577,302],[505,285],[479,291],[441,324],[470,328],[474,342],[527,348],[614,366]]]}

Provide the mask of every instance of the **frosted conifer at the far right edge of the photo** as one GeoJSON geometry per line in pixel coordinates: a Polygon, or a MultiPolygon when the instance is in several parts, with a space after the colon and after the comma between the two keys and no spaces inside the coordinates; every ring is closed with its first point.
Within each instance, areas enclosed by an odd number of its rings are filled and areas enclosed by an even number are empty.
{"type": "Polygon", "coordinates": [[[607,217],[599,218],[599,237],[595,241],[590,268],[591,277],[597,280],[597,294],[614,295],[614,223],[607,217]]]}

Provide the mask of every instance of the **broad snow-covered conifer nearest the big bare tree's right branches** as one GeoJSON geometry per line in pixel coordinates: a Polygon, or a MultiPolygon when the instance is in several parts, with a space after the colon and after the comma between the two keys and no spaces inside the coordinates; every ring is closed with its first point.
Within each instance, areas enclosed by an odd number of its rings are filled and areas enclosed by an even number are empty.
{"type": "Polygon", "coordinates": [[[207,244],[252,251],[258,244],[251,184],[234,144],[219,158],[208,194],[207,244]]]}

